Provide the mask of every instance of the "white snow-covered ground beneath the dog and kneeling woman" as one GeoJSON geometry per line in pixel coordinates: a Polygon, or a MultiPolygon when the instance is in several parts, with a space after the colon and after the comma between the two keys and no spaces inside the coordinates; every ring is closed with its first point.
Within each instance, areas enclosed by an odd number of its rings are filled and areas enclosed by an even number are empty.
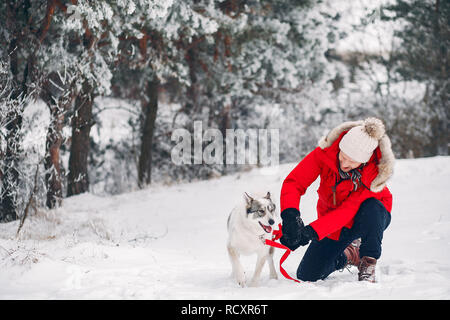
{"type": "MultiPolygon", "coordinates": [[[[269,279],[240,288],[231,278],[226,221],[243,192],[270,190],[279,208],[284,177],[254,169],[210,181],[153,185],[114,197],[92,194],[61,208],[0,225],[0,299],[449,299],[450,157],[398,160],[389,183],[392,222],[377,265],[378,283],[356,269],[297,284],[269,279]]],[[[302,198],[315,218],[317,182],[302,198]]],[[[295,275],[305,248],[285,269],[295,275]]],[[[277,249],[276,261],[282,251],[277,249]]],[[[244,257],[248,277],[255,257],[244,257]]]]}

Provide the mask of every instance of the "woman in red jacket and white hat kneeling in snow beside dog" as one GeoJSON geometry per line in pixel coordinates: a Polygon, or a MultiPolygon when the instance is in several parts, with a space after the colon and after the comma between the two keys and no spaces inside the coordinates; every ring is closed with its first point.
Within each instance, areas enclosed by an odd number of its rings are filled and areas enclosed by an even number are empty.
{"type": "Polygon", "coordinates": [[[386,181],[394,160],[383,123],[368,118],[331,130],[289,173],[281,188],[280,242],[295,250],[312,240],[297,270],[300,280],[325,279],[355,265],[358,280],[375,282],[383,232],[391,220],[386,181]],[[318,218],[304,226],[300,198],[319,175],[318,218]]]}

